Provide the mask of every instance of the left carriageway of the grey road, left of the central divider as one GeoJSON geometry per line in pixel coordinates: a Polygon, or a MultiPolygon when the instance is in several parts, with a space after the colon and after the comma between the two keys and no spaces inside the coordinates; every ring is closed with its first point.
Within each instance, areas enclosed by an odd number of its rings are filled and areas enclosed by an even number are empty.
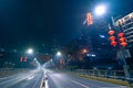
{"type": "Polygon", "coordinates": [[[40,88],[43,72],[34,69],[0,78],[0,88],[40,88]]]}

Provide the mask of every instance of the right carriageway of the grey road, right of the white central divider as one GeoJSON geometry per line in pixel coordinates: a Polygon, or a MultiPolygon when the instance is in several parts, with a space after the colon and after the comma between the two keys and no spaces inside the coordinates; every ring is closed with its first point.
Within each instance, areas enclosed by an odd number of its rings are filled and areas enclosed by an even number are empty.
{"type": "Polygon", "coordinates": [[[81,78],[65,72],[47,72],[45,88],[127,88],[120,85],[81,78]]]}

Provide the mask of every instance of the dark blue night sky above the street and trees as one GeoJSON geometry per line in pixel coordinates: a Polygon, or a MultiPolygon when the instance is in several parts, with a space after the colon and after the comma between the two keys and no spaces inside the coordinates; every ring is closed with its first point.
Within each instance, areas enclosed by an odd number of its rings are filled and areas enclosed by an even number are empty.
{"type": "Polygon", "coordinates": [[[52,44],[54,32],[60,44],[68,43],[102,2],[116,15],[133,11],[132,0],[0,0],[0,45],[52,44]]]}

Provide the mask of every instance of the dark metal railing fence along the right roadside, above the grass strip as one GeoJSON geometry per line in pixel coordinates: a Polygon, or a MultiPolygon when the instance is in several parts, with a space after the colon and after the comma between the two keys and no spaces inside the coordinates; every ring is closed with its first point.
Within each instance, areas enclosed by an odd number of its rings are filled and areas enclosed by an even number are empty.
{"type": "MultiPolygon", "coordinates": [[[[89,75],[96,77],[108,77],[108,78],[116,78],[116,79],[126,79],[124,75],[124,70],[102,70],[102,69],[76,69],[73,70],[75,74],[80,75],[89,75]]],[[[131,76],[133,76],[133,70],[131,72],[131,76]]]]}

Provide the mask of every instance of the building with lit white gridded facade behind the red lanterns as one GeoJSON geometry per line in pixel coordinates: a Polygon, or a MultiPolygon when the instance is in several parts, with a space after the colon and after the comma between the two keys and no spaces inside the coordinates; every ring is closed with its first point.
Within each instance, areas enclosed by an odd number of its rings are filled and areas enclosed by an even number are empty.
{"type": "Polygon", "coordinates": [[[115,22],[115,25],[120,29],[121,32],[125,33],[127,47],[133,47],[133,12],[119,19],[115,22]]]}

